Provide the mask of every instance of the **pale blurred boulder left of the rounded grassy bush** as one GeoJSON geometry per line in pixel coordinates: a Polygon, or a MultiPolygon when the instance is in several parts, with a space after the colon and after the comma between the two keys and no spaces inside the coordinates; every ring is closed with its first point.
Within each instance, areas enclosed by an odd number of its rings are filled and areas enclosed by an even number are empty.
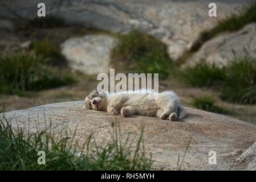
{"type": "Polygon", "coordinates": [[[117,43],[108,35],[70,38],[62,44],[62,54],[72,69],[95,75],[109,72],[110,52],[117,43]]]}

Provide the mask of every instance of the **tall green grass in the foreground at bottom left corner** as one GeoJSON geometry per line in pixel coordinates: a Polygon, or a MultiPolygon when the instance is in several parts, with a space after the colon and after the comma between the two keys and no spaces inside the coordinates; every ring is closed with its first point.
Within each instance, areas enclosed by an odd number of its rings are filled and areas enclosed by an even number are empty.
{"type": "Polygon", "coordinates": [[[120,140],[119,127],[105,147],[93,142],[92,135],[83,146],[74,137],[56,139],[47,130],[27,134],[13,129],[5,117],[0,119],[0,170],[150,170],[152,159],[145,155],[143,130],[135,147],[129,139],[120,140]],[[44,151],[46,164],[38,164],[38,151],[44,151]],[[83,152],[84,151],[84,152],[83,152]],[[95,151],[95,152],[92,152],[95,151]]]}

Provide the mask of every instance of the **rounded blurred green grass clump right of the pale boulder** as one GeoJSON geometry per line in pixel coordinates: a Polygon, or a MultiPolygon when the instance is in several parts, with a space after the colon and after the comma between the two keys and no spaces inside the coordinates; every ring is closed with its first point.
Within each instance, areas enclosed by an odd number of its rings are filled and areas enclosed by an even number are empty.
{"type": "Polygon", "coordinates": [[[160,78],[169,75],[172,65],[164,43],[136,30],[119,38],[112,49],[111,59],[116,68],[139,73],[159,73],[160,78]]]}

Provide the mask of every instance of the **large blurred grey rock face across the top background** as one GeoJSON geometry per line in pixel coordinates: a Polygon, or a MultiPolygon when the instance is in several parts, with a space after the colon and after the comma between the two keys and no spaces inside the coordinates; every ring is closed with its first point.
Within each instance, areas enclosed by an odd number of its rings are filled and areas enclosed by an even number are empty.
{"type": "MultiPolygon", "coordinates": [[[[7,1],[11,9],[26,18],[37,15],[39,0],[7,1]]],[[[216,1],[217,17],[209,17],[212,1],[148,0],[46,0],[46,14],[60,16],[71,23],[125,33],[134,28],[156,36],[168,46],[170,57],[177,59],[195,42],[202,30],[237,10],[246,1],[216,1]]],[[[0,7],[0,16],[11,14],[0,7]]]]}

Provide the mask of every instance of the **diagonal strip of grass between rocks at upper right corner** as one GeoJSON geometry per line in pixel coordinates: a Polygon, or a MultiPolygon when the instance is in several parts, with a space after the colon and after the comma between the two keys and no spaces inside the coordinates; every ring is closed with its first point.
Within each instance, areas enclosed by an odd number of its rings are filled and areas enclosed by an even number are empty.
{"type": "Polygon", "coordinates": [[[194,43],[190,51],[197,51],[204,42],[222,32],[239,30],[251,22],[256,22],[256,2],[251,2],[241,13],[233,14],[229,18],[221,20],[211,30],[201,32],[200,38],[194,43]]]}

